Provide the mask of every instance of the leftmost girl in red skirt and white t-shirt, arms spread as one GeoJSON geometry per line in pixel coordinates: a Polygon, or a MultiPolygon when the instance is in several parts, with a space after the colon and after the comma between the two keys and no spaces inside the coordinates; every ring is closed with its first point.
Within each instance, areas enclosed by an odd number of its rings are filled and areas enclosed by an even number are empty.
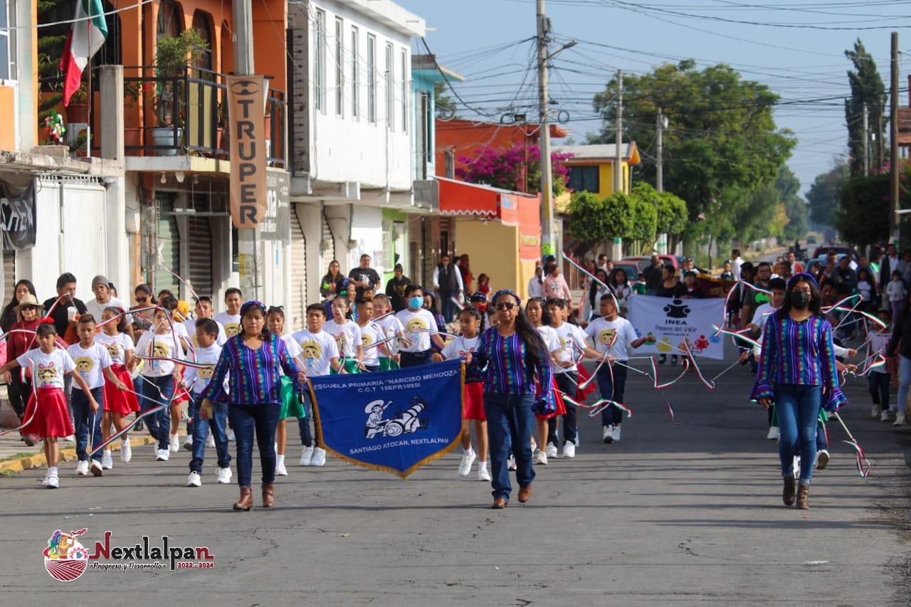
{"type": "Polygon", "coordinates": [[[92,397],[86,380],[78,373],[73,373],[76,363],[73,362],[72,356],[68,355],[66,350],[58,348],[55,340],[54,322],[46,319],[36,329],[38,347],[0,366],[0,374],[22,366],[32,375],[35,389],[28,399],[26,426],[22,431],[45,439],[47,475],[43,484],[47,489],[57,489],[60,486],[56,466],[59,457],[57,438],[68,437],[76,431],[69,420],[67,395],[63,390],[65,375],[72,375],[73,381],[86,394],[88,406],[93,412],[98,410],[97,401],[92,397]]]}

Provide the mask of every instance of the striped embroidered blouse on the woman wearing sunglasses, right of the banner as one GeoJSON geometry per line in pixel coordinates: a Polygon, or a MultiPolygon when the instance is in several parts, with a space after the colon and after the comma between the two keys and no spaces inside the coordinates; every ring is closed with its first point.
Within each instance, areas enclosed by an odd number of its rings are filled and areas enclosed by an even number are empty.
{"type": "Polygon", "coordinates": [[[497,394],[538,394],[543,398],[553,391],[553,369],[547,348],[541,347],[543,356],[537,364],[526,365],[527,346],[518,334],[504,337],[496,327],[481,334],[477,349],[471,357],[467,375],[480,377],[485,392],[497,394]],[[538,390],[536,379],[542,389],[538,390]]]}

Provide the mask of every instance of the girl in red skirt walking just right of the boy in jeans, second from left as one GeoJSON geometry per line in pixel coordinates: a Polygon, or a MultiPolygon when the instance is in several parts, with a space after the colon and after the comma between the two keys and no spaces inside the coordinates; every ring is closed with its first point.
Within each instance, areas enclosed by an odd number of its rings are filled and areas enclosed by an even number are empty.
{"type": "MultiPolygon", "coordinates": [[[[136,397],[133,387],[133,378],[127,368],[133,359],[133,340],[129,335],[124,333],[127,329],[127,317],[118,315],[121,311],[118,308],[105,308],[101,313],[103,321],[107,322],[101,327],[101,333],[97,334],[96,341],[98,344],[107,348],[107,353],[111,355],[114,365],[111,370],[118,379],[126,384],[127,390],[120,390],[111,382],[105,382],[105,410],[101,417],[101,437],[107,442],[111,437],[111,422],[114,422],[114,428],[117,432],[128,426],[127,416],[136,413],[139,410],[139,401],[136,397]],[[112,319],[118,318],[117,321],[112,319]]],[[[110,461],[110,445],[105,449],[102,458],[104,462],[110,461]]],[[[132,450],[129,448],[129,436],[120,437],[120,461],[127,463],[133,457],[132,450]]]]}

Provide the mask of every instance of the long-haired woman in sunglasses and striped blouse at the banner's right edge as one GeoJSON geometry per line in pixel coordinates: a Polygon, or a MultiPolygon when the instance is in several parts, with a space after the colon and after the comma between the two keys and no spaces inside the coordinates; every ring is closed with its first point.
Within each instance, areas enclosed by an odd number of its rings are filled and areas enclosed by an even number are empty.
{"type": "Polygon", "coordinates": [[[484,413],[493,471],[493,508],[507,507],[510,447],[516,457],[518,500],[531,497],[531,433],[535,413],[553,411],[553,371],[548,349],[528,321],[519,296],[508,289],[494,293],[496,326],[481,335],[469,373],[484,380],[484,413]]]}

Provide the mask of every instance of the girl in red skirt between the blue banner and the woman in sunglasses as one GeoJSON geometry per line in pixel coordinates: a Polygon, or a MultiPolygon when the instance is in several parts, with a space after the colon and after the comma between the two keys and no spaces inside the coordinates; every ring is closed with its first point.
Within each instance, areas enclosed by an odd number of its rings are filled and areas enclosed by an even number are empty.
{"type": "MultiPolygon", "coordinates": [[[[462,358],[466,364],[471,362],[471,354],[476,351],[477,342],[480,340],[480,330],[483,328],[484,315],[473,306],[468,306],[458,315],[461,336],[456,337],[443,348],[440,353],[435,353],[433,359],[439,363],[444,359],[462,358]]],[[[471,465],[477,458],[477,479],[490,480],[487,471],[487,420],[484,417],[484,384],[471,382],[465,385],[463,394],[465,406],[462,410],[462,461],[459,463],[459,476],[466,477],[471,473],[471,465]],[[475,421],[475,434],[477,436],[477,453],[471,448],[471,422],[475,421]]]]}

